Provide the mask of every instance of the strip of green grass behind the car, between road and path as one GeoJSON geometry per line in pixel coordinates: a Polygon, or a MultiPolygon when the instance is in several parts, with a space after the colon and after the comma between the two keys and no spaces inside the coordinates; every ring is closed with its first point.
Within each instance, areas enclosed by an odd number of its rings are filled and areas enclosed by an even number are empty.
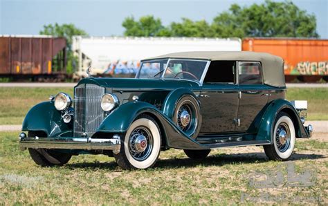
{"type": "MultiPolygon", "coordinates": [[[[33,105],[60,91],[73,96],[73,88],[0,88],[0,124],[21,124],[33,105]]],[[[307,120],[328,120],[327,88],[289,88],[287,98],[309,102],[307,120]]]]}

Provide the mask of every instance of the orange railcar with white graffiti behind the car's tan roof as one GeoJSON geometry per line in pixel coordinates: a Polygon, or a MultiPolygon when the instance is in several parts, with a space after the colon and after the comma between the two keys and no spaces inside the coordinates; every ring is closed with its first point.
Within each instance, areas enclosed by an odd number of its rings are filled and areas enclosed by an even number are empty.
{"type": "Polygon", "coordinates": [[[313,82],[328,77],[328,40],[246,38],[242,50],[266,52],[284,59],[286,80],[313,82]]]}

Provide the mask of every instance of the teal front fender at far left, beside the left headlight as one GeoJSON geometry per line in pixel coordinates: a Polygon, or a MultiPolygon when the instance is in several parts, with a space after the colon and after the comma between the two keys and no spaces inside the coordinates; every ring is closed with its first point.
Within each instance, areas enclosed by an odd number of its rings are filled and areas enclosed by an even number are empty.
{"type": "Polygon", "coordinates": [[[51,137],[69,131],[71,127],[71,124],[63,122],[60,111],[55,109],[53,102],[42,102],[28,111],[21,130],[44,131],[48,137],[51,137]]]}

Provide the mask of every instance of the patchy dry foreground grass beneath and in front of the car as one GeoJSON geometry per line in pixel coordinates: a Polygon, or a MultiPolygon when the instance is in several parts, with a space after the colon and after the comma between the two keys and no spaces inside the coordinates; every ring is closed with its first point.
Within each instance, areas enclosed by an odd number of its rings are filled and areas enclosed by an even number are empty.
{"type": "Polygon", "coordinates": [[[202,161],[170,149],[148,170],[122,171],[113,158],[86,155],[73,156],[64,167],[39,167],[28,151],[19,150],[18,133],[0,133],[0,205],[328,203],[327,134],[297,141],[295,173],[311,171],[314,185],[295,187],[286,185],[286,164],[291,162],[268,161],[262,147],[218,149],[202,161]],[[275,187],[251,184],[265,178],[258,173],[273,171],[275,177],[280,169],[284,182],[275,187]]]}

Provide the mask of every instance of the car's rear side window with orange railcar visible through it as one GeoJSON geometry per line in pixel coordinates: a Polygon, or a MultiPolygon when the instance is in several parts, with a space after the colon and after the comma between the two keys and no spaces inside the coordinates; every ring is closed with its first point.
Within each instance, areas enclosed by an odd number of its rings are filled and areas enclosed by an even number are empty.
{"type": "Polygon", "coordinates": [[[239,84],[262,84],[259,62],[239,62],[239,84]]]}

